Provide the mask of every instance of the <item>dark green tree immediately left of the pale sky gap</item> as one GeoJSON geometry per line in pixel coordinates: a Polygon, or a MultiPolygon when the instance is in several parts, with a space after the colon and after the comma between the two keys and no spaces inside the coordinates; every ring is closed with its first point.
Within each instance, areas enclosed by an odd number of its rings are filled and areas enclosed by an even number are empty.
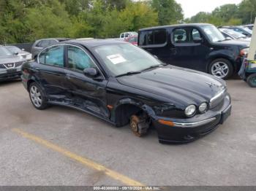
{"type": "Polygon", "coordinates": [[[158,12],[161,26],[180,23],[184,18],[181,5],[175,0],[152,0],[151,6],[158,12]]]}

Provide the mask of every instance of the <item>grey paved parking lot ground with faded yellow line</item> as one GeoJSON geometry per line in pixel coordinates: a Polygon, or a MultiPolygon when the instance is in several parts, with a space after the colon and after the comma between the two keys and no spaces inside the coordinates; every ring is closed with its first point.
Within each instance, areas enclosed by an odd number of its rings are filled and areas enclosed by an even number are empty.
{"type": "Polygon", "coordinates": [[[74,109],[38,111],[20,82],[1,83],[0,185],[256,185],[256,91],[241,80],[227,85],[225,125],[163,145],[154,131],[140,139],[74,109]]]}

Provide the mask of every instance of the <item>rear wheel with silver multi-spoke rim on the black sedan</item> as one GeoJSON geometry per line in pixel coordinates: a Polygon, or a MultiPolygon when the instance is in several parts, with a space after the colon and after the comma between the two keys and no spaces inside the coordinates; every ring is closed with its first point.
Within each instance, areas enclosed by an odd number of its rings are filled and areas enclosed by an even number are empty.
{"type": "Polygon", "coordinates": [[[42,110],[48,107],[45,93],[42,91],[41,87],[39,87],[39,85],[37,85],[37,83],[35,82],[29,85],[29,98],[36,109],[42,110]]]}

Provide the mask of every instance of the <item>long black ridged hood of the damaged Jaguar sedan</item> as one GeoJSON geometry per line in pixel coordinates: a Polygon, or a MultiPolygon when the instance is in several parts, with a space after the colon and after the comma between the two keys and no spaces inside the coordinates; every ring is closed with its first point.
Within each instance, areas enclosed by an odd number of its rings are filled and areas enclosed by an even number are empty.
{"type": "Polygon", "coordinates": [[[132,76],[118,77],[122,85],[153,93],[181,107],[210,101],[226,88],[225,81],[199,71],[165,66],[132,76]]]}

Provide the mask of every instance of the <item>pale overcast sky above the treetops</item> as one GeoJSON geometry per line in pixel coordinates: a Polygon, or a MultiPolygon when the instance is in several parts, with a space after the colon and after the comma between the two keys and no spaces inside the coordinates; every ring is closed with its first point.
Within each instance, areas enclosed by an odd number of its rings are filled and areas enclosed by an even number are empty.
{"type": "Polygon", "coordinates": [[[242,0],[176,0],[181,4],[184,17],[192,17],[198,12],[211,12],[223,4],[239,4],[242,0]]]}

